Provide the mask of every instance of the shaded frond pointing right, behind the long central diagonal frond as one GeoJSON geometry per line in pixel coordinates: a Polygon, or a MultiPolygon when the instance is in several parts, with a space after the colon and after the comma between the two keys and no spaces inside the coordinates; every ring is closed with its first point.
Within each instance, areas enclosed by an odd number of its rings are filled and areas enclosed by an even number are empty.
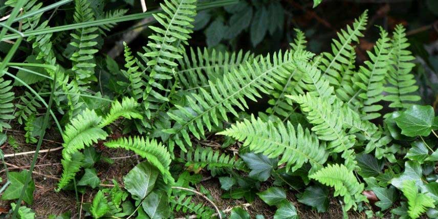
{"type": "Polygon", "coordinates": [[[220,52],[204,48],[190,48],[190,54],[184,53],[180,61],[178,77],[183,90],[193,90],[203,87],[207,89],[208,81],[222,79],[224,73],[230,72],[245,62],[252,62],[254,54],[250,52],[220,52]]]}

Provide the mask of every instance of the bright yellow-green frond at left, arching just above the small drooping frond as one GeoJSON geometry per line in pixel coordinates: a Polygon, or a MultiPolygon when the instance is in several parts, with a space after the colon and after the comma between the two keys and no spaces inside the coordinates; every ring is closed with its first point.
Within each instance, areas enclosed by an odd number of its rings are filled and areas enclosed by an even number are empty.
{"type": "Polygon", "coordinates": [[[97,116],[94,110],[90,111],[86,108],[82,114],[72,119],[70,124],[65,126],[62,134],[64,140],[62,155],[64,159],[68,158],[69,154],[108,136],[104,130],[98,127],[101,120],[102,117],[97,116]]]}

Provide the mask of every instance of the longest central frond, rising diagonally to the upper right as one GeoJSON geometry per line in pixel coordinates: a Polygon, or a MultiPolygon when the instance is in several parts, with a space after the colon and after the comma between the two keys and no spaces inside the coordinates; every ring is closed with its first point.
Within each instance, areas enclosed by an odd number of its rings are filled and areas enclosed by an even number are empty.
{"type": "Polygon", "coordinates": [[[257,101],[256,98],[261,98],[260,92],[269,94],[269,90],[278,85],[278,78],[289,76],[292,67],[291,52],[279,52],[274,54],[272,60],[269,55],[260,57],[259,61],[247,62],[225,74],[222,80],[209,81],[209,91],[200,88],[199,94],[187,96],[187,107],[176,105],[178,111],[167,113],[176,121],[167,130],[173,134],[169,141],[170,148],[176,143],[186,151],[185,143],[191,146],[188,130],[200,139],[204,135],[204,126],[211,130],[212,124],[219,125],[220,120],[228,121],[227,112],[237,116],[233,106],[245,110],[248,108],[245,98],[257,101]]]}

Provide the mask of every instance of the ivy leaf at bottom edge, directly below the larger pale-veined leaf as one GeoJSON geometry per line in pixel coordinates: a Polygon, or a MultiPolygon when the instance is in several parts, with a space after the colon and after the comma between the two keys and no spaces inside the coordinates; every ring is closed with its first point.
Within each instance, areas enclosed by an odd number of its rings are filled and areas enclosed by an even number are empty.
{"type": "Polygon", "coordinates": [[[151,192],[142,202],[144,212],[150,219],[169,218],[170,206],[167,203],[168,196],[164,192],[151,192]]]}

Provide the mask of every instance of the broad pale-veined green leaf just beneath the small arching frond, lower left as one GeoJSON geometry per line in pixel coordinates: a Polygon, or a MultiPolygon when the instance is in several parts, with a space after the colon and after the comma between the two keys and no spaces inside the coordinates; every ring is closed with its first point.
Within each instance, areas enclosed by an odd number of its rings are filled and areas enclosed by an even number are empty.
{"type": "Polygon", "coordinates": [[[147,161],[137,164],[123,178],[125,189],[134,196],[134,199],[143,200],[154,189],[158,173],[157,168],[147,161]]]}

